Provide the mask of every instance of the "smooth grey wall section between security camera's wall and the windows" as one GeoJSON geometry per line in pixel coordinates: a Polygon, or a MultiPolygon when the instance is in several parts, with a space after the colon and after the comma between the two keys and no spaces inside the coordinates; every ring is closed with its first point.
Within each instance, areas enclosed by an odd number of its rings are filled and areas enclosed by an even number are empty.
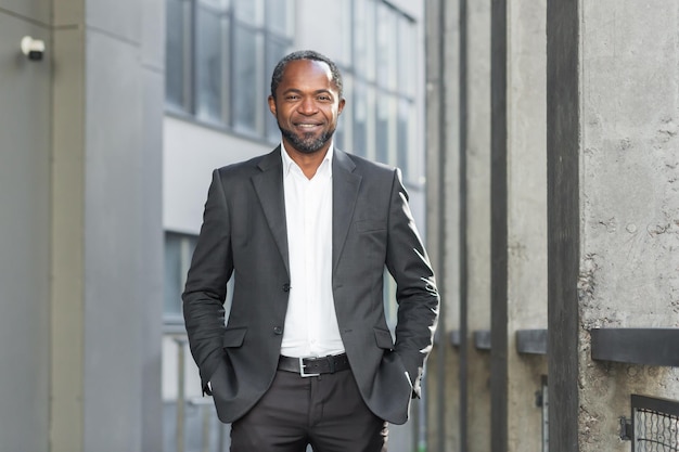
{"type": "Polygon", "coordinates": [[[161,450],[164,2],[53,7],[51,451],[161,450]]]}

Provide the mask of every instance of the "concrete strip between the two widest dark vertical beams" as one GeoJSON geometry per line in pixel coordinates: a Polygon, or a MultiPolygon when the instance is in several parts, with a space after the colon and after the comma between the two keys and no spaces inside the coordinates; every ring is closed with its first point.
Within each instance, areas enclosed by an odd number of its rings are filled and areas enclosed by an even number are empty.
{"type": "Polygon", "coordinates": [[[521,330],[547,328],[547,1],[508,8],[508,451],[539,451],[535,392],[547,358],[518,354],[521,330]]]}

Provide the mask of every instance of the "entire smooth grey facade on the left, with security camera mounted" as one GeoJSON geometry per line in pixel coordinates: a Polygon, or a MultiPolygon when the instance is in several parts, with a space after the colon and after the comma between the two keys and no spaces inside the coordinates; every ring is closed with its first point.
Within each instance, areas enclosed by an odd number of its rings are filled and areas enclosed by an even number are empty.
{"type": "Polygon", "coordinates": [[[0,1],[1,450],[162,449],[164,10],[0,1]]]}

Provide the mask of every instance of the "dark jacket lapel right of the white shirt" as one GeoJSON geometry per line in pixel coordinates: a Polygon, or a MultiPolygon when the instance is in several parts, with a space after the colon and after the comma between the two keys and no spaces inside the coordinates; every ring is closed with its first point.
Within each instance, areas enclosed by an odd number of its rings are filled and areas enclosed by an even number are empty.
{"type": "Polygon", "coordinates": [[[354,173],[356,165],[342,151],[335,147],[332,169],[332,268],[333,273],[340,262],[346,242],[354,208],[358,197],[361,177],[354,173]]]}

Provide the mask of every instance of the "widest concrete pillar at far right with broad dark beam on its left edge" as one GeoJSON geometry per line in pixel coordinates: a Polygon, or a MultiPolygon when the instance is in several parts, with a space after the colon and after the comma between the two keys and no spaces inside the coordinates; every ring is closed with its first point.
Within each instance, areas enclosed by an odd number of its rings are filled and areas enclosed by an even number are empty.
{"type": "Polygon", "coordinates": [[[550,451],[628,451],[630,393],[676,367],[592,361],[594,327],[677,327],[679,4],[548,1],[550,451]]]}

